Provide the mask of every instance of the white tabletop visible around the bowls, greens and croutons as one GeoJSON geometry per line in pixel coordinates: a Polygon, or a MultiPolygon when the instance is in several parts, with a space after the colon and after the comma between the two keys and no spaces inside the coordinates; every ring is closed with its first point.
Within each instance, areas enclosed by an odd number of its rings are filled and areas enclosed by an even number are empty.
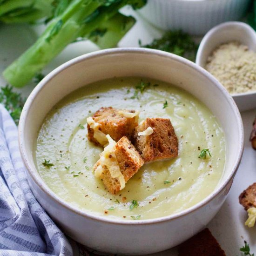
{"type": "MultiPolygon", "coordinates": [[[[142,44],[146,44],[162,35],[163,32],[161,30],[148,24],[130,8],[125,8],[123,12],[133,14],[137,18],[137,23],[121,40],[119,47],[137,47],[139,39],[141,39],[142,44]]],[[[38,26],[0,25],[0,74],[8,64],[33,44],[41,30],[42,27],[38,26]]],[[[95,50],[98,50],[98,48],[90,42],[78,42],[69,45],[42,73],[47,74],[64,62],[95,50]]],[[[6,82],[0,76],[0,86],[5,84],[6,82]]],[[[17,89],[17,91],[27,97],[34,86],[35,84],[32,82],[25,88],[17,89]]],[[[227,256],[241,256],[239,248],[243,246],[244,240],[249,243],[251,251],[256,252],[256,227],[249,229],[244,226],[247,214],[238,202],[240,193],[250,184],[256,182],[256,151],[251,148],[249,143],[249,135],[256,115],[256,109],[243,112],[241,115],[245,131],[243,159],[226,202],[207,226],[221,244],[227,256]]],[[[75,255],[79,255],[78,251],[76,251],[75,255]]],[[[176,249],[169,249],[154,255],[176,256],[177,251],[176,249]]]]}

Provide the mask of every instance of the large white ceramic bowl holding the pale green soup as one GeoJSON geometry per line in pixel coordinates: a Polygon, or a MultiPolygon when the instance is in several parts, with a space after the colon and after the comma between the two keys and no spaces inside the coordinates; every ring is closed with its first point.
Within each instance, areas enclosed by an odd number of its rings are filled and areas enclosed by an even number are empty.
{"type": "Polygon", "coordinates": [[[68,236],[109,253],[148,254],[182,243],[215,216],[229,192],[242,157],[243,124],[232,97],[211,74],[195,63],[152,49],[116,48],[82,55],[48,74],[23,108],[19,140],[35,197],[68,236]],[[72,91],[114,76],[141,76],[175,84],[194,94],[216,115],[225,133],[227,155],[223,176],[213,193],[171,216],[128,221],[110,220],[75,209],[47,187],[35,167],[33,151],[37,132],[48,111],[72,91]]]}

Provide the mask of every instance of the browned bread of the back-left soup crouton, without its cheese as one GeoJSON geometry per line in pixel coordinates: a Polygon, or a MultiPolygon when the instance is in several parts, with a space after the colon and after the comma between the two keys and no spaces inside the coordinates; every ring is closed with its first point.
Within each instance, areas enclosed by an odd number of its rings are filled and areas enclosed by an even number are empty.
{"type": "MultiPolygon", "coordinates": [[[[135,126],[138,125],[137,118],[127,118],[119,114],[119,111],[135,113],[135,110],[115,109],[112,107],[102,107],[92,116],[93,120],[101,125],[99,130],[104,134],[109,134],[114,141],[119,141],[121,137],[127,136],[128,139],[134,134],[135,126]]],[[[95,145],[100,143],[94,138],[94,130],[87,125],[88,139],[95,145]]]]}

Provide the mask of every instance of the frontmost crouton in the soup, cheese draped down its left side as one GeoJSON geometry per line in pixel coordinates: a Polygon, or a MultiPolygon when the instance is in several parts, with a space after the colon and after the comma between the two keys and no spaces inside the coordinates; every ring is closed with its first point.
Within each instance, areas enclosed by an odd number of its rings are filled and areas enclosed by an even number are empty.
{"type": "Polygon", "coordinates": [[[128,140],[122,137],[115,142],[107,135],[109,145],[95,163],[95,176],[101,178],[108,191],[116,194],[144,164],[141,155],[128,140]]]}

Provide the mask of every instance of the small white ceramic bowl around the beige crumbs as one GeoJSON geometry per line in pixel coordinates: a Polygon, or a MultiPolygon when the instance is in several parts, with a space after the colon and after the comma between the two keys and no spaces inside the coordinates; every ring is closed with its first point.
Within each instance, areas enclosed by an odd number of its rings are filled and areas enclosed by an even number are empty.
{"type": "MultiPolygon", "coordinates": [[[[205,67],[210,54],[223,43],[239,41],[256,52],[256,32],[243,22],[225,22],[212,28],[202,39],[195,63],[205,67]]],[[[231,94],[240,111],[256,108],[256,92],[231,94]]]]}

